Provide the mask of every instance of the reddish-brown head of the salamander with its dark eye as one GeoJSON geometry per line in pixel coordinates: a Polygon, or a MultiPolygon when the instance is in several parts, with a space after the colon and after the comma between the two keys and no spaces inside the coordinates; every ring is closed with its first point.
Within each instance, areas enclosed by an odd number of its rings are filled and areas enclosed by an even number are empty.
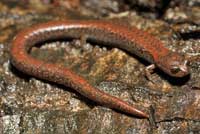
{"type": "Polygon", "coordinates": [[[189,74],[188,61],[184,56],[170,52],[159,59],[157,66],[173,77],[184,77],[189,74]]]}

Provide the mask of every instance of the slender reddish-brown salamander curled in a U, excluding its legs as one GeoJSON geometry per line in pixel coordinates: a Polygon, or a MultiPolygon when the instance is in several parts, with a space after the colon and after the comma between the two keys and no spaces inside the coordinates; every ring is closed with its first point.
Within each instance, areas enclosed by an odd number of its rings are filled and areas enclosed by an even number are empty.
{"type": "Polygon", "coordinates": [[[155,37],[137,28],[129,29],[102,21],[54,21],[27,28],[17,34],[12,42],[11,62],[29,75],[69,86],[101,105],[148,118],[146,113],[93,87],[72,70],[45,63],[28,54],[36,43],[50,39],[80,38],[83,35],[88,40],[103,42],[105,45],[134,53],[173,77],[188,74],[187,61],[184,57],[163,47],[155,37]]]}

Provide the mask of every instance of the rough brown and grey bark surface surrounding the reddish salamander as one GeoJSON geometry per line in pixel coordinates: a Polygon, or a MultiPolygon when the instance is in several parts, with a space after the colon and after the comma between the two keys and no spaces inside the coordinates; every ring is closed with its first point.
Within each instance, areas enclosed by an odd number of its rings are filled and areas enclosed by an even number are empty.
{"type": "Polygon", "coordinates": [[[198,0],[1,0],[0,133],[199,133],[200,3],[198,0]],[[10,64],[11,40],[32,24],[64,19],[104,19],[136,26],[186,55],[191,75],[171,78],[117,48],[57,40],[31,54],[70,67],[95,87],[148,112],[138,119],[99,106],[73,89],[36,79],[10,64]]]}

